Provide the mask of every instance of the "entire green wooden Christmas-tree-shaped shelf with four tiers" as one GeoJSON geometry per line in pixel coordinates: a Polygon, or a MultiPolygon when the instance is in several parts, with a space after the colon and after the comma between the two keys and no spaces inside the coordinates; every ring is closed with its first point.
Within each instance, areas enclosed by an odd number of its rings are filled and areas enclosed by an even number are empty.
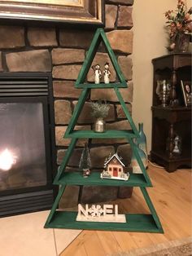
{"type": "Polygon", "coordinates": [[[81,96],[76,108],[73,112],[72,119],[68,125],[68,129],[64,135],[64,138],[71,138],[68,150],[63,158],[63,162],[59,167],[58,174],[55,177],[54,184],[60,185],[58,196],[55,199],[54,205],[50,210],[50,215],[46,220],[45,227],[51,228],[72,228],[72,229],[95,229],[95,230],[116,230],[116,231],[130,231],[130,232],[164,232],[159,222],[159,218],[155,212],[155,208],[151,202],[151,199],[146,192],[146,187],[152,187],[151,180],[146,173],[146,169],[143,166],[142,159],[137,152],[137,147],[133,143],[133,139],[139,137],[136,126],[133,123],[133,119],[129,114],[124,100],[120,94],[119,88],[126,88],[127,83],[120,70],[120,66],[116,61],[111,46],[107,40],[107,37],[103,29],[98,29],[94,35],[93,41],[89,47],[89,51],[85,57],[85,62],[82,65],[81,72],[76,80],[76,88],[83,88],[81,96]],[[111,59],[117,77],[120,82],[114,83],[85,83],[85,77],[89,72],[89,68],[94,60],[94,56],[98,51],[99,44],[103,42],[106,46],[106,51],[111,59]],[[127,117],[132,130],[107,130],[103,133],[96,133],[93,130],[74,130],[76,121],[81,113],[81,109],[85,104],[89,92],[91,89],[97,90],[98,88],[111,88],[115,90],[116,96],[120,101],[121,107],[124,110],[124,114],[127,117]],[[85,179],[82,172],[65,172],[68,165],[69,158],[72,155],[73,149],[76,146],[77,139],[82,138],[96,138],[96,139],[122,139],[125,138],[130,143],[133,153],[137,159],[138,165],[142,170],[142,174],[130,174],[128,181],[115,180],[115,179],[100,179],[100,173],[93,172],[89,175],[89,178],[85,179]],[[64,212],[57,210],[59,201],[67,185],[79,185],[79,186],[123,186],[123,187],[139,187],[142,191],[142,195],[146,201],[146,204],[151,211],[151,214],[125,214],[126,223],[102,223],[102,222],[78,222],[76,221],[76,212],[64,212]]]}

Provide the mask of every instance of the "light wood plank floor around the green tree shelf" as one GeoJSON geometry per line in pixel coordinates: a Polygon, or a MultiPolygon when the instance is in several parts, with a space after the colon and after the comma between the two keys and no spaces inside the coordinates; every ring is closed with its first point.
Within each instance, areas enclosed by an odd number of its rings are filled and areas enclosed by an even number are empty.
{"type": "MultiPolygon", "coordinates": [[[[148,174],[154,187],[147,191],[164,234],[83,231],[60,256],[106,256],[191,236],[191,171],[168,173],[150,166],[148,174]]],[[[120,200],[119,207],[129,212],[148,212],[139,188],[133,189],[131,199],[120,200]]]]}

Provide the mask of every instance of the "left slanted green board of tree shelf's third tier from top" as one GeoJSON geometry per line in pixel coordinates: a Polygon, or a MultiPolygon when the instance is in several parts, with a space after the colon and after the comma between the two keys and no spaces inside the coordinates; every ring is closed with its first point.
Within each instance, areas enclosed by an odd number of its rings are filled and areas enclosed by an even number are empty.
{"type": "Polygon", "coordinates": [[[64,155],[62,164],[61,164],[61,166],[59,166],[59,170],[58,170],[58,172],[57,172],[57,174],[55,176],[54,184],[58,184],[58,180],[59,180],[61,174],[63,173],[63,171],[65,170],[66,166],[68,165],[68,161],[69,161],[69,159],[70,159],[70,157],[72,155],[73,149],[76,146],[76,142],[77,142],[76,138],[73,138],[71,140],[71,143],[68,146],[68,150],[67,150],[67,152],[64,155]]]}

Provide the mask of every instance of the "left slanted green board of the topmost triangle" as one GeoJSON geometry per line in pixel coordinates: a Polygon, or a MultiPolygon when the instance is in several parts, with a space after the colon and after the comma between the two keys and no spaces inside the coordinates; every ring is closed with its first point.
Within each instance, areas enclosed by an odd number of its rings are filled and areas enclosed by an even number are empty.
{"type": "Polygon", "coordinates": [[[96,33],[94,34],[94,38],[89,46],[89,51],[85,55],[85,61],[81,67],[81,71],[76,79],[76,82],[75,82],[76,88],[78,88],[79,84],[82,84],[85,82],[85,77],[89,72],[89,68],[94,60],[94,56],[98,51],[98,46],[101,43],[101,39],[102,38],[100,37],[100,30],[97,29],[96,33]]]}

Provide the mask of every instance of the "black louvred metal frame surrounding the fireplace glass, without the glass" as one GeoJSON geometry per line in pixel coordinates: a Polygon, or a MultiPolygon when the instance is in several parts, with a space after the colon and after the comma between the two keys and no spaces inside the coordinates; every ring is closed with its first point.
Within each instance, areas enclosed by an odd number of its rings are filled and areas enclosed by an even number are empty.
{"type": "Polygon", "coordinates": [[[52,74],[0,73],[0,103],[2,102],[42,103],[47,183],[41,187],[0,192],[0,217],[49,210],[57,194],[57,187],[52,184],[57,170],[52,74]]]}

